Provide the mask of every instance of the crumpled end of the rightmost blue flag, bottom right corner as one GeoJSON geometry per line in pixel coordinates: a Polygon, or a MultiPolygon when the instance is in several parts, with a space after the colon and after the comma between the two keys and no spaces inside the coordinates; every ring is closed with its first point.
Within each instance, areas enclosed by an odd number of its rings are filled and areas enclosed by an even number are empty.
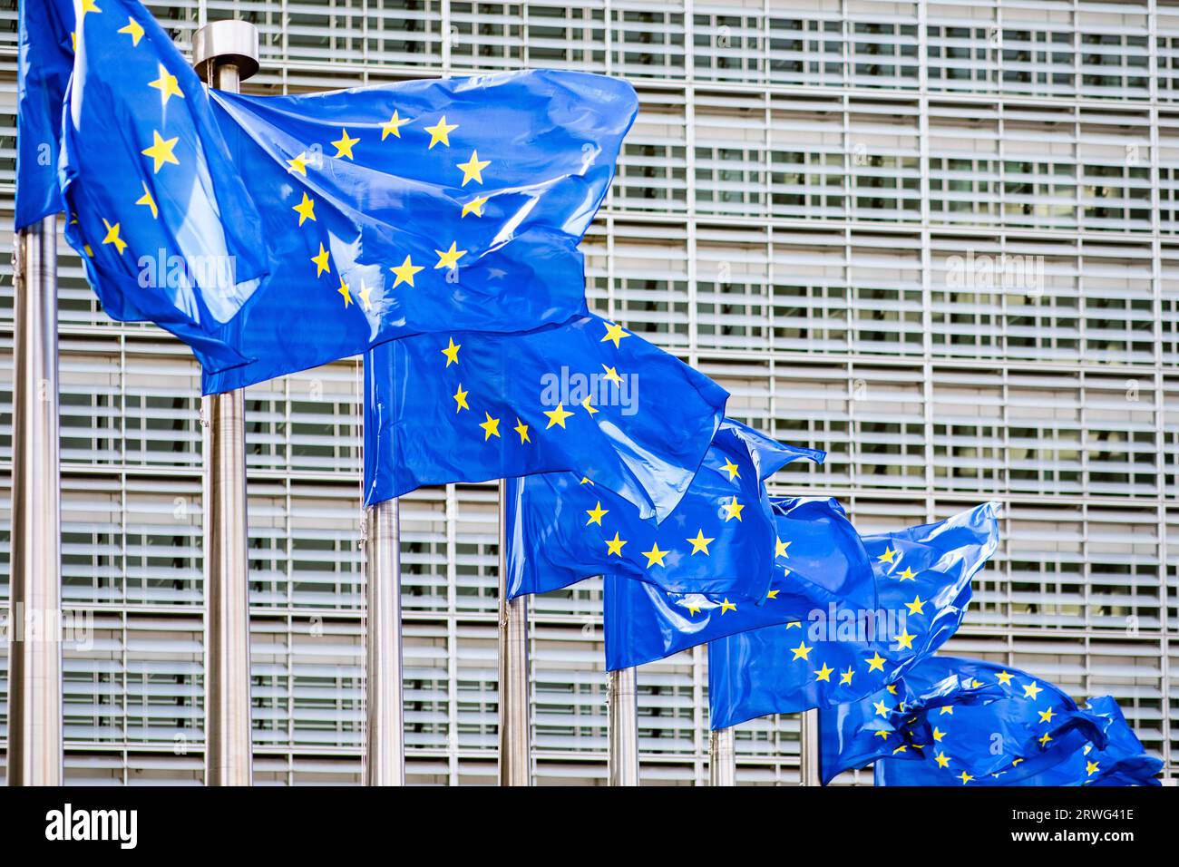
{"type": "Polygon", "coordinates": [[[1146,751],[1138,735],[1126,722],[1113,696],[1091,698],[1086,705],[1105,724],[1107,743],[1095,743],[1071,754],[1065,761],[1016,786],[1161,786],[1158,775],[1162,761],[1146,751]]]}

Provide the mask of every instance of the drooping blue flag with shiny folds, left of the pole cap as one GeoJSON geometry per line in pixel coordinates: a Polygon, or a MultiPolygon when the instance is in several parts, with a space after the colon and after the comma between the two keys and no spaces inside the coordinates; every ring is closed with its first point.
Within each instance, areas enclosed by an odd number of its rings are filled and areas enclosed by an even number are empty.
{"type": "Polygon", "coordinates": [[[79,11],[66,238],[110,316],[157,322],[209,363],[242,363],[216,333],[268,275],[265,236],[204,87],[139,2],[79,11]]]}

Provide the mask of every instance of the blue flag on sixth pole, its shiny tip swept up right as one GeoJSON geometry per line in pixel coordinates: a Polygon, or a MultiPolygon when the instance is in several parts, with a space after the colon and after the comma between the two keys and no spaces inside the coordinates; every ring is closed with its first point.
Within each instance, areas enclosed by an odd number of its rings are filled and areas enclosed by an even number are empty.
{"type": "Polygon", "coordinates": [[[954,632],[970,580],[999,545],[999,504],[864,536],[877,607],[836,604],[801,622],[709,643],[712,728],[855,701],[891,683],[954,632]]]}

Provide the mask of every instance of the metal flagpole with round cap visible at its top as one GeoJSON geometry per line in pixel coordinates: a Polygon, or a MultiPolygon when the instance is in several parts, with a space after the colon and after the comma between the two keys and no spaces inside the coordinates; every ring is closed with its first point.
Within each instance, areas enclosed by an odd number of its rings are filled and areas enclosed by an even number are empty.
{"type": "MultiPolygon", "coordinates": [[[[238,92],[258,71],[249,21],[208,24],[192,65],[218,90],[238,92]]],[[[205,506],[205,784],[250,786],[250,582],[246,556],[245,402],[242,389],[203,400],[208,425],[205,506]]]]}

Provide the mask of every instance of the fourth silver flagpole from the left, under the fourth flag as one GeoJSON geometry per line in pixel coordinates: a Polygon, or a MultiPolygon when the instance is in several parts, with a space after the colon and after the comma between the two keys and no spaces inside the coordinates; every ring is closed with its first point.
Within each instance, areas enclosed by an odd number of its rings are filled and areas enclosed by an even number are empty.
{"type": "Polygon", "coordinates": [[[532,784],[528,717],[528,600],[508,602],[507,482],[500,480],[500,786],[532,784]]]}

